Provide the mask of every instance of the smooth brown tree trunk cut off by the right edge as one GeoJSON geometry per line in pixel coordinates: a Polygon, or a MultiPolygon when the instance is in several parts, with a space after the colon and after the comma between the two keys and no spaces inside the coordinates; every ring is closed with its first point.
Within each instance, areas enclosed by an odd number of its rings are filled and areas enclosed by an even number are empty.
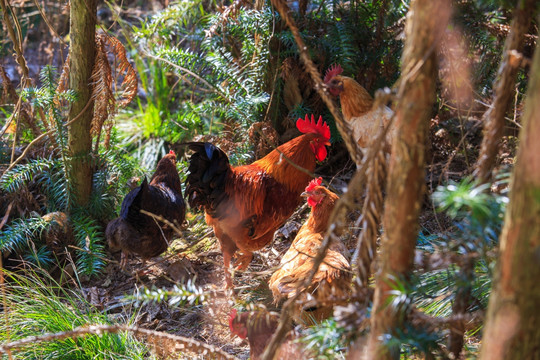
{"type": "Polygon", "coordinates": [[[540,359],[540,51],[536,49],[480,359],[540,359]]]}

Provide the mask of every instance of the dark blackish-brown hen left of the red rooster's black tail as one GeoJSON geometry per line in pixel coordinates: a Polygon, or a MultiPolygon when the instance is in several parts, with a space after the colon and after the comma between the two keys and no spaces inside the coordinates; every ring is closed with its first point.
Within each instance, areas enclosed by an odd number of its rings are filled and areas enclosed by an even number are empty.
{"type": "Polygon", "coordinates": [[[174,234],[171,226],[143,214],[141,210],[160,216],[176,226],[184,222],[186,206],[174,151],[171,150],[158,162],[150,183],[145,178],[140,186],[126,195],[120,216],[107,225],[105,236],[109,248],[122,251],[122,268],[125,268],[130,254],[140,256],[143,263],[158,256],[167,250],[174,234]]]}

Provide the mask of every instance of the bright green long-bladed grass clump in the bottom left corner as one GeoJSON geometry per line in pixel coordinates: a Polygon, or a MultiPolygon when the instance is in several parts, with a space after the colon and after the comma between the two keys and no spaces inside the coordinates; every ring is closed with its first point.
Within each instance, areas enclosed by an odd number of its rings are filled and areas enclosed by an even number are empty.
{"type": "MultiPolygon", "coordinates": [[[[114,324],[107,314],[89,304],[80,291],[68,290],[46,274],[7,274],[10,286],[5,300],[10,304],[9,317],[0,322],[1,343],[83,326],[114,324]]],[[[20,359],[51,360],[149,358],[148,349],[126,333],[34,342],[13,355],[20,359]]]]}

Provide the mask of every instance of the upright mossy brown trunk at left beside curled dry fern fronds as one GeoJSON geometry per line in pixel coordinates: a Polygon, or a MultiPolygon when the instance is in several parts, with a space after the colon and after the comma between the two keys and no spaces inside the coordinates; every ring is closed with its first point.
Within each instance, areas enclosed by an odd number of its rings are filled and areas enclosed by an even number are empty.
{"type": "Polygon", "coordinates": [[[69,118],[79,116],[68,129],[71,155],[69,178],[73,200],[84,206],[92,192],[90,127],[94,115],[91,101],[90,76],[94,67],[96,36],[96,0],[71,0],[69,24],[69,88],[77,93],[69,118]],[[87,106],[89,104],[89,106],[87,106]]]}

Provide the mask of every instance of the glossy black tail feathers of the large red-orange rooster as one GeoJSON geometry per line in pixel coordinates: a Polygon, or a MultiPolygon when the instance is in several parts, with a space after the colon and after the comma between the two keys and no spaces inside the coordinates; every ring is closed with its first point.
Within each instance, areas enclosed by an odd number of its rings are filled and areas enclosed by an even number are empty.
{"type": "Polygon", "coordinates": [[[194,153],[189,159],[185,195],[192,208],[204,207],[207,213],[221,217],[218,206],[227,201],[225,181],[231,173],[229,158],[207,142],[185,143],[194,153]]]}

